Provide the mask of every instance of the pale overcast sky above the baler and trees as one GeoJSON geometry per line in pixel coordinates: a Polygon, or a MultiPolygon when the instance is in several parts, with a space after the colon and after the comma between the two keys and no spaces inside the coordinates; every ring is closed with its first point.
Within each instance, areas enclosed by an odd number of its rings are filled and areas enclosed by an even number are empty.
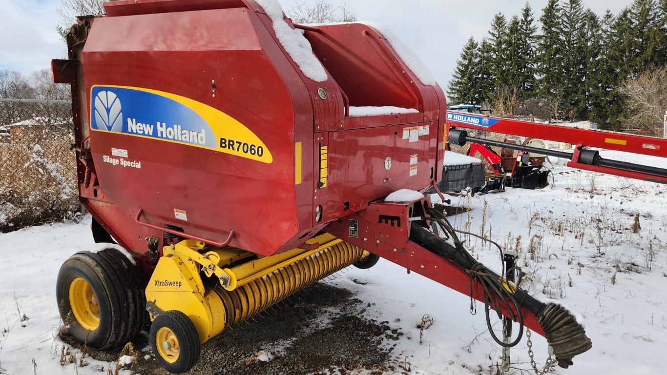
{"type": "MultiPolygon", "coordinates": [[[[54,58],[65,56],[65,47],[55,27],[55,7],[60,0],[0,0],[0,69],[31,73],[50,67],[54,58]]],[[[314,3],[315,0],[304,0],[314,3]]],[[[540,18],[547,0],[528,1],[540,18]]],[[[584,0],[598,15],[614,14],[632,0],[584,0]]],[[[289,9],[295,0],[281,0],[289,9]]],[[[331,0],[342,4],[342,0],[331,0]]],[[[524,0],[348,0],[362,21],[375,21],[393,29],[410,45],[446,89],[461,49],[470,36],[481,39],[488,33],[495,13],[508,19],[519,15],[524,0]]]]}

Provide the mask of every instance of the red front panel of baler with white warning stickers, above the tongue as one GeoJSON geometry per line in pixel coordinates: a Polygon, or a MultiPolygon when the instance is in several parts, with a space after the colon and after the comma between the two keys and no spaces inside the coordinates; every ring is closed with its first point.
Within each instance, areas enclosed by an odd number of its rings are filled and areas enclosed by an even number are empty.
{"type": "Polygon", "coordinates": [[[346,202],[354,212],[401,188],[428,187],[438,143],[430,129],[437,126],[431,122],[329,133],[325,220],[343,216],[346,202]]]}

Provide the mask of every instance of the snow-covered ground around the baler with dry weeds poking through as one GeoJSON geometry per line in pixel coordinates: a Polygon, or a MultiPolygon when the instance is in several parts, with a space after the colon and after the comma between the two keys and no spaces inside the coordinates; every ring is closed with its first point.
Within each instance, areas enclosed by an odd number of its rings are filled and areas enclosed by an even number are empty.
{"type": "MultiPolygon", "coordinates": [[[[664,159],[608,151],[602,156],[667,167],[664,159]]],[[[574,358],[570,369],[556,368],[556,373],[662,373],[667,350],[667,186],[562,164],[555,171],[554,186],[542,190],[508,188],[500,194],[453,198],[452,204],[472,210],[450,221],[518,249],[518,265],[527,274],[522,286],[539,298],[558,298],[586,318],[593,348],[574,358]],[[634,234],[636,212],[641,228],[634,234]]],[[[85,221],[0,234],[0,373],[33,374],[33,360],[37,374],[99,374],[102,366],[103,373],[107,371],[110,364],[91,358],[85,358],[90,365],[82,368],[61,366],[63,342],[57,339],[55,278],[68,256],[91,246],[85,221]],[[29,320],[21,322],[23,314],[29,320]]],[[[474,237],[470,246],[482,262],[500,267],[497,250],[474,237]]],[[[386,345],[396,344],[394,360],[410,373],[496,373],[500,350],[485,332],[482,305],[471,316],[467,296],[384,260],[370,270],[350,268],[327,282],[372,304],[366,317],[386,320],[404,332],[386,345]],[[434,322],[422,331],[420,343],[416,327],[425,314],[434,322]]],[[[496,330],[500,332],[500,324],[496,330]]],[[[532,341],[541,368],[548,355],[546,340],[534,335],[532,341]]],[[[513,368],[530,369],[525,337],[512,349],[512,362],[513,368]]]]}

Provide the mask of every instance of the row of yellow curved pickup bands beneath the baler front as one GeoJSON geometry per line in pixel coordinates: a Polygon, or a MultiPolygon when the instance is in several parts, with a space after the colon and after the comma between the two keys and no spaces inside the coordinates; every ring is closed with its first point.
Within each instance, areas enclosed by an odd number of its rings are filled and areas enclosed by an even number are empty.
{"type": "Polygon", "coordinates": [[[350,266],[362,257],[363,252],[358,246],[339,242],[234,290],[217,286],[214,290],[225,306],[225,328],[239,324],[306,286],[350,266]]]}

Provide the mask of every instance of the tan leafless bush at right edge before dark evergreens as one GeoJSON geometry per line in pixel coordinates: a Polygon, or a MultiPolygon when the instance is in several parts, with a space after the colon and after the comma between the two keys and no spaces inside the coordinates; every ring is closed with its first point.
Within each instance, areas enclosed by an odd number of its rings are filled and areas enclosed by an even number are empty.
{"type": "Polygon", "coordinates": [[[628,129],[643,129],[664,137],[663,115],[667,111],[667,68],[657,67],[630,77],[621,87],[632,115],[628,129]]]}

